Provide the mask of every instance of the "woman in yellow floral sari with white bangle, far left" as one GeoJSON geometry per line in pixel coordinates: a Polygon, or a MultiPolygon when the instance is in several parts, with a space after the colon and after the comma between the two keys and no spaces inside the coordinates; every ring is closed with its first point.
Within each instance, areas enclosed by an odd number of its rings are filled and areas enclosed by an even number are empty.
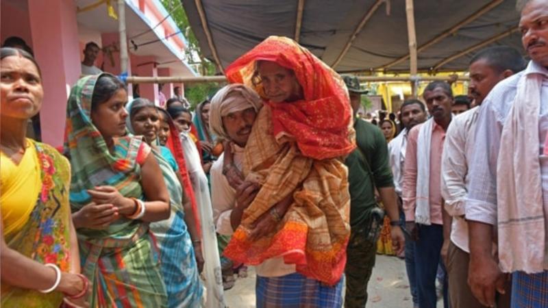
{"type": "Polygon", "coordinates": [[[42,107],[40,68],[29,53],[1,49],[1,306],[86,305],[69,206],[71,168],[58,151],[25,138],[42,107]]]}

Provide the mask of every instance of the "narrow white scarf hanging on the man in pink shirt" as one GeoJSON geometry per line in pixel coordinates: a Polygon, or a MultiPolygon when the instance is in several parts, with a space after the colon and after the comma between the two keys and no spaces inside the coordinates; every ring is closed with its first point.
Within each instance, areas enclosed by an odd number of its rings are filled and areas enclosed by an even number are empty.
{"type": "Polygon", "coordinates": [[[416,140],[416,208],[415,222],[430,225],[430,144],[434,118],[427,120],[419,129],[416,140]]]}

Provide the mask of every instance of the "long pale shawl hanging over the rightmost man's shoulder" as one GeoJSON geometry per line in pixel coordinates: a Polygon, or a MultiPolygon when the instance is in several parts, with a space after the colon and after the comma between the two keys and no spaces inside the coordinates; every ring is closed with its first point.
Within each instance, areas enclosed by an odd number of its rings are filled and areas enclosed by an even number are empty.
{"type": "Polygon", "coordinates": [[[538,115],[543,75],[524,73],[504,123],[497,160],[499,259],[503,272],[543,272],[545,216],[538,115]]]}

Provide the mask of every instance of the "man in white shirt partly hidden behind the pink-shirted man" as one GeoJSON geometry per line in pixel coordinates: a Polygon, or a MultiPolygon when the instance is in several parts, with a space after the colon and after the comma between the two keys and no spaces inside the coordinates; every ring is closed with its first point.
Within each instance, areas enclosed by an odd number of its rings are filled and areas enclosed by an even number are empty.
{"type": "MultiPolygon", "coordinates": [[[[401,215],[401,188],[403,187],[403,163],[406,161],[406,146],[407,136],[415,125],[423,123],[428,114],[425,105],[418,99],[410,99],[404,101],[399,108],[403,131],[396,138],[388,143],[388,158],[392,173],[394,175],[394,188],[399,197],[399,207],[401,215]]],[[[405,218],[404,218],[405,220],[405,218]]],[[[416,277],[414,268],[414,241],[406,235],[406,270],[409,279],[410,292],[413,300],[413,305],[419,307],[419,298],[416,294],[416,277]]]]}

